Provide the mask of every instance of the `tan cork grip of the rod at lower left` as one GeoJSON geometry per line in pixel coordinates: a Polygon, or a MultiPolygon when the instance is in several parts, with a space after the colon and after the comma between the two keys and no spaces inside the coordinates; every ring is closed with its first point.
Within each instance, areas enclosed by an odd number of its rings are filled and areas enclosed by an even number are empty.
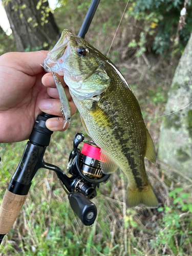
{"type": "Polygon", "coordinates": [[[0,234],[6,234],[9,232],[20,210],[22,209],[26,198],[27,195],[16,195],[6,189],[0,207],[0,234]]]}

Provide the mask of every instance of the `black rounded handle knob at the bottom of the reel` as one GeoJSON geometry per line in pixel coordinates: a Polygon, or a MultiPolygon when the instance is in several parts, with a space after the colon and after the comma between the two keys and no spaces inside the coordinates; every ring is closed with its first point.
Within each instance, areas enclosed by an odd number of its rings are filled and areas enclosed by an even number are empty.
{"type": "Polygon", "coordinates": [[[71,208],[86,226],[93,225],[97,217],[97,208],[81,193],[72,192],[69,194],[71,208]]]}

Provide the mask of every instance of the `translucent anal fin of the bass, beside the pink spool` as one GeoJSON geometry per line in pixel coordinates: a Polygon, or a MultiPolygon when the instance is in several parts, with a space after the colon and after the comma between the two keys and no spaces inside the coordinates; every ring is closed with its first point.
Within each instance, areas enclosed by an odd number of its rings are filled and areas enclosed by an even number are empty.
{"type": "Polygon", "coordinates": [[[112,174],[118,169],[118,165],[101,149],[101,170],[103,174],[112,174]]]}

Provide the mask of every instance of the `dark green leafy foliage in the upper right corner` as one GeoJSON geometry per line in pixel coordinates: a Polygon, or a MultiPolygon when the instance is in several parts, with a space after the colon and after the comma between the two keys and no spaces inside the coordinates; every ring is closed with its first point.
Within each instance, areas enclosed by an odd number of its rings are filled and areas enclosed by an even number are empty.
{"type": "MultiPolygon", "coordinates": [[[[134,17],[140,15],[140,13],[154,13],[157,17],[157,29],[154,40],[153,50],[156,53],[164,55],[167,52],[170,52],[174,38],[176,35],[178,22],[180,18],[180,11],[184,6],[184,0],[136,0],[133,3],[133,12],[132,15],[134,17]]],[[[191,1],[188,2],[187,5],[187,16],[186,16],[186,26],[179,32],[180,35],[180,43],[178,45],[179,50],[183,51],[186,43],[189,39],[190,32],[192,31],[192,23],[191,23],[191,15],[192,15],[192,6],[191,1]]],[[[143,21],[145,23],[145,18],[143,21]]],[[[146,25],[145,25],[146,26],[146,25]]]]}

